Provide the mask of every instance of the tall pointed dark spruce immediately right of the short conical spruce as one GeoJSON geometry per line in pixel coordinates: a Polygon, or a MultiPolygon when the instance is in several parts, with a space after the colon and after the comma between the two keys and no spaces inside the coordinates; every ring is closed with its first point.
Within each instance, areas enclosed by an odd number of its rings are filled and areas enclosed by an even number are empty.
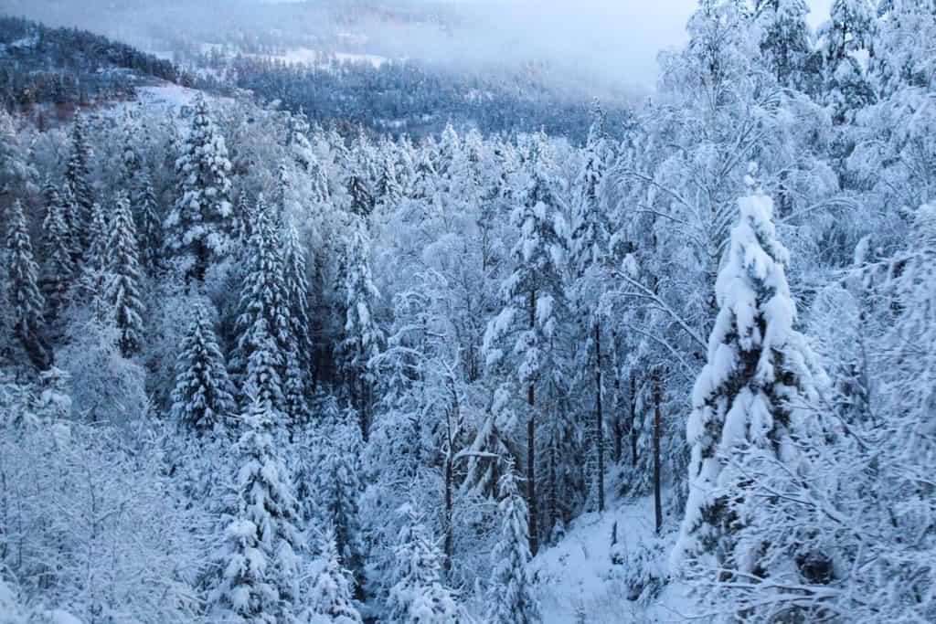
{"type": "Polygon", "coordinates": [[[247,377],[255,377],[256,389],[273,401],[273,406],[283,409],[282,377],[285,372],[285,356],[295,342],[290,330],[290,312],[286,300],[283,275],[283,255],[279,237],[271,224],[267,204],[263,197],[257,199],[253,213],[250,239],[244,249],[243,283],[238,304],[238,316],[234,324],[236,346],[231,355],[231,369],[243,390],[247,377]],[[262,326],[262,327],[261,327],[262,326]],[[259,349],[261,356],[255,356],[259,349]],[[251,372],[251,362],[254,370],[251,372]],[[256,367],[269,367],[270,374],[263,373],[264,382],[256,375],[256,367]],[[268,387],[275,377],[276,388],[268,387]]]}

